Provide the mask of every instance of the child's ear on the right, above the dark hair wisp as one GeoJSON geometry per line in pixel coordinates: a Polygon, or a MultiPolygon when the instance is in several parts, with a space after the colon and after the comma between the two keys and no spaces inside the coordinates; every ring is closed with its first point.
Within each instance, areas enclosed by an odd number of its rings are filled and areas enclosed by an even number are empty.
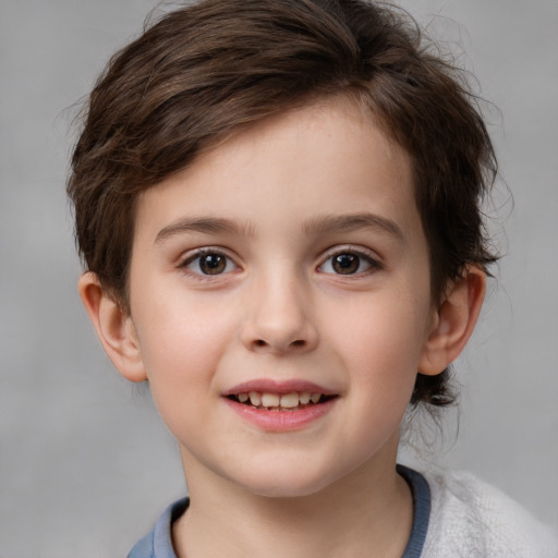
{"type": "Polygon", "coordinates": [[[434,314],[432,331],[423,347],[418,372],[427,376],[441,373],[453,362],[473,333],[486,291],[486,274],[477,267],[450,284],[445,300],[434,314]]]}

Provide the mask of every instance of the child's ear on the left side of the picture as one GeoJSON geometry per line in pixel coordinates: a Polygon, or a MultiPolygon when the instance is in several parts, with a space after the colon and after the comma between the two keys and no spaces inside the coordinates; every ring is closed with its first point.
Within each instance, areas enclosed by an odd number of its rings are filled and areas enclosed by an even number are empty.
{"type": "Polygon", "coordinates": [[[117,369],[131,381],[147,379],[137,333],[129,313],[107,293],[93,272],[84,274],[77,283],[80,296],[97,331],[97,336],[117,369]]]}

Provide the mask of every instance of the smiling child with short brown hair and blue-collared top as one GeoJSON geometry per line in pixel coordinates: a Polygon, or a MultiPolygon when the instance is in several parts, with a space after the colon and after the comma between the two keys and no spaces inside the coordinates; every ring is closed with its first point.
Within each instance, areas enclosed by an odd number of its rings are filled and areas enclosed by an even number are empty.
{"type": "Polygon", "coordinates": [[[495,489],[396,464],[408,407],[453,401],[495,173],[392,8],[206,0],[112,59],[69,180],[80,293],[190,494],[131,558],[557,556],[495,489]]]}

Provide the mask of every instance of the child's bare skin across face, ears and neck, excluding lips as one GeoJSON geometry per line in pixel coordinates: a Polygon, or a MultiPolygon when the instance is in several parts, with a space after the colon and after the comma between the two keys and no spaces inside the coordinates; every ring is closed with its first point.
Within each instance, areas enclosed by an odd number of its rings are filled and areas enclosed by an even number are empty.
{"type": "Polygon", "coordinates": [[[112,362],[149,380],[178,440],[191,496],[173,526],[179,557],[401,556],[412,525],[395,470],[402,416],[416,372],[440,373],[465,344],[485,288],[471,268],[433,303],[411,177],[408,155],[357,107],[317,102],[142,195],[130,314],[93,274],[81,279],[112,362]],[[208,257],[220,272],[207,275],[208,257]],[[312,381],[335,401],[269,432],[225,397],[259,379],[312,381]]]}

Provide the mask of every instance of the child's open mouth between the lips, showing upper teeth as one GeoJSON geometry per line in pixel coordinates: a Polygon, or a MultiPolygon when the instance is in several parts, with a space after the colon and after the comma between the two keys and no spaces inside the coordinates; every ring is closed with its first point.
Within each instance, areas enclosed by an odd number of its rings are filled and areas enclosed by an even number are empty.
{"type": "Polygon", "coordinates": [[[227,398],[252,409],[266,411],[292,412],[310,407],[316,407],[337,396],[310,391],[293,391],[291,393],[274,393],[265,391],[245,391],[228,395],[227,398]]]}

